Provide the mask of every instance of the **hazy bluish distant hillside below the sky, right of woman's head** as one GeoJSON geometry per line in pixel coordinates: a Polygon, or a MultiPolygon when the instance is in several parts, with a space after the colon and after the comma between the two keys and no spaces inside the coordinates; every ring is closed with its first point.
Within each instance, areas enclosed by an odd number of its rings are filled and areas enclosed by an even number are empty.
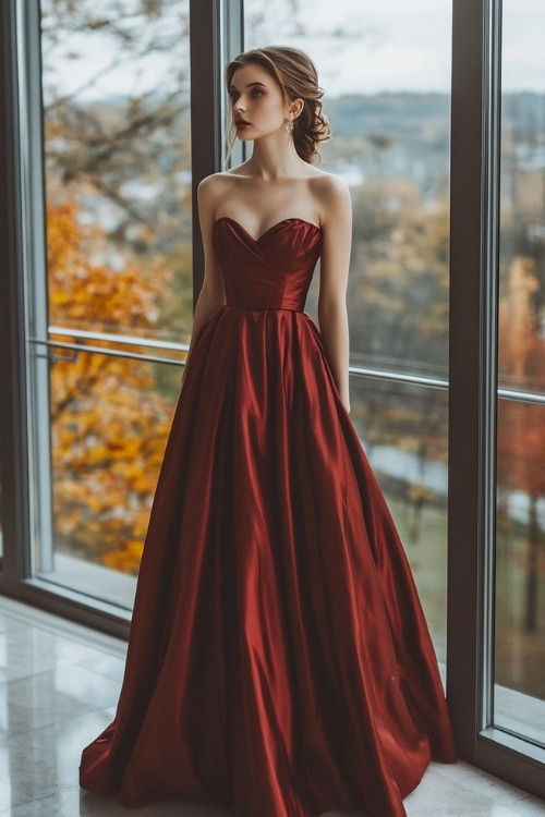
{"type": "MultiPolygon", "coordinates": [[[[327,99],[334,139],[324,167],[358,185],[376,175],[410,179],[428,199],[448,190],[449,94],[352,94],[327,99]]],[[[545,94],[502,99],[502,127],[514,133],[518,163],[545,168],[545,94]]]]}

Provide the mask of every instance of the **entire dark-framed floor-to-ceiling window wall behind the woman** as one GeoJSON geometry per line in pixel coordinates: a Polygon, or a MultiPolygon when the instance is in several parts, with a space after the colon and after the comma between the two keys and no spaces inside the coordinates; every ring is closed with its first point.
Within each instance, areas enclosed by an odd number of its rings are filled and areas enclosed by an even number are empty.
{"type": "Polygon", "coordinates": [[[126,632],[222,66],[299,46],[353,200],[353,419],[460,755],[545,795],[544,33],[543,0],[0,3],[0,592],[126,632]]]}

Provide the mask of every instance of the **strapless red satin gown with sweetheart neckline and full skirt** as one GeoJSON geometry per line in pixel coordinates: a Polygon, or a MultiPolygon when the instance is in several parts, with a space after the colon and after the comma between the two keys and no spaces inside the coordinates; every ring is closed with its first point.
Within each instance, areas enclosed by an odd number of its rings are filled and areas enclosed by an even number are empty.
{"type": "Polygon", "coordinates": [[[81,783],[235,817],[405,815],[455,747],[390,514],[303,312],[319,228],[219,219],[227,305],[185,373],[114,722],[81,783]]]}

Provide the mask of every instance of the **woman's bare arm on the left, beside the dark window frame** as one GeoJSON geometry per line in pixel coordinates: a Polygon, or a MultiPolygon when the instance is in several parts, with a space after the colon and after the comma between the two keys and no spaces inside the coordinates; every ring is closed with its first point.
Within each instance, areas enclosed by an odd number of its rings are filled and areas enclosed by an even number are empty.
{"type": "Polygon", "coordinates": [[[198,338],[198,333],[201,332],[203,325],[208,320],[209,317],[211,317],[211,315],[214,315],[217,309],[219,309],[226,303],[223,279],[218,268],[211,243],[216,197],[217,180],[215,180],[214,176],[208,176],[201,182],[197,191],[198,220],[201,222],[201,234],[203,236],[205,272],[203,286],[195,305],[193,328],[191,331],[190,353],[187,355],[187,359],[191,355],[193,343],[198,338]]]}

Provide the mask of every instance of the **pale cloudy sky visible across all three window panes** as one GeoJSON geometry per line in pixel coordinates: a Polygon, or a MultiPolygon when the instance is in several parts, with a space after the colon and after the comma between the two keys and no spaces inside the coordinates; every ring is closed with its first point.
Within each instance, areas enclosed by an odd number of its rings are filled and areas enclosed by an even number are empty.
{"type": "MultiPolygon", "coordinates": [[[[545,0],[502,4],[504,88],[544,93],[545,0]]],[[[316,62],[327,96],[449,93],[452,0],[244,0],[244,7],[245,47],[275,42],[303,48],[316,62]]],[[[181,5],[173,2],[171,8],[181,5]]],[[[132,86],[142,90],[172,76],[168,53],[156,52],[147,62],[133,64],[125,58],[119,64],[112,42],[100,33],[66,35],[50,62],[63,93],[81,87],[89,73],[111,63],[114,66],[81,98],[123,95],[132,86]],[[70,59],[63,60],[63,50],[70,59]]]]}

